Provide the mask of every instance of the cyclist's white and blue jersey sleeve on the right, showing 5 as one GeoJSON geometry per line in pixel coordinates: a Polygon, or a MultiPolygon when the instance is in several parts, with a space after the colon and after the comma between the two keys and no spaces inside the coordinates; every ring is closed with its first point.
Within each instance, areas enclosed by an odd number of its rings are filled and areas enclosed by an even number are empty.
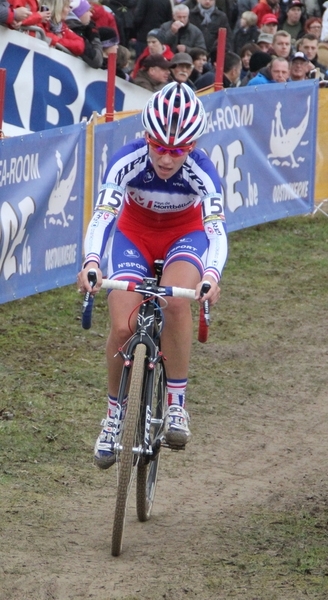
{"type": "Polygon", "coordinates": [[[198,150],[190,163],[190,184],[200,196],[204,230],[209,242],[204,277],[220,281],[228,255],[227,228],[221,181],[212,161],[198,150]]]}

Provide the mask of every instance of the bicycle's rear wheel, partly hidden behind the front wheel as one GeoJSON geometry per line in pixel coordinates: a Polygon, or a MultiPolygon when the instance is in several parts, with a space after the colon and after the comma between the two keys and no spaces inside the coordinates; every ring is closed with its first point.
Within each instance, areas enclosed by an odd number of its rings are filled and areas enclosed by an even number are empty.
{"type": "MultiPolygon", "coordinates": [[[[147,389],[147,386],[145,386],[147,389]]],[[[147,392],[145,392],[147,393],[147,392]]],[[[142,458],[137,469],[137,515],[139,521],[148,521],[151,515],[160,460],[160,436],[164,426],[166,378],[164,365],[159,362],[153,373],[151,444],[154,450],[153,460],[142,458]],[[157,447],[156,447],[157,446],[157,447]]],[[[147,399],[145,399],[147,400],[147,399]]],[[[146,406],[147,401],[145,402],[146,406]]]]}

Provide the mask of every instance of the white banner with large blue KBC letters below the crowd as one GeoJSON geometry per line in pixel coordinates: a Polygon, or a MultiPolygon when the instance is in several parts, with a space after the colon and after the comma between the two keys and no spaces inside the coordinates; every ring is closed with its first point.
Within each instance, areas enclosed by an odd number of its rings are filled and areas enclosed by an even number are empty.
{"type": "MultiPolygon", "coordinates": [[[[0,68],[6,69],[6,136],[66,127],[105,113],[107,71],[22,32],[0,26],[0,68]]],[[[115,110],[142,108],[151,95],[115,79],[115,110]]]]}

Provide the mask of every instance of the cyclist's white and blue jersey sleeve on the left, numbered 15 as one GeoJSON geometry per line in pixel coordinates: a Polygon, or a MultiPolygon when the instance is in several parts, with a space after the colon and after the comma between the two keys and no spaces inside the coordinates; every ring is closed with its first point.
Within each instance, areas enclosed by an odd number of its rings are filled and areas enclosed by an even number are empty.
{"type": "Polygon", "coordinates": [[[122,210],[126,186],[146,160],[147,146],[143,140],[127,144],[110,160],[84,241],[84,265],[91,261],[100,264],[114,222],[122,210]]]}

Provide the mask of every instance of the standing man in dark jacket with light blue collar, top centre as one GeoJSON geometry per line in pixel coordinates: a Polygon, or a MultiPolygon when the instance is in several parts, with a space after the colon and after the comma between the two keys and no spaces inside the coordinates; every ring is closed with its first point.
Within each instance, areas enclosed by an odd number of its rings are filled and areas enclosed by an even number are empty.
{"type": "Polygon", "coordinates": [[[228,17],[215,6],[215,0],[198,0],[198,5],[190,11],[189,21],[203,32],[208,52],[211,52],[217,42],[218,31],[221,27],[227,30],[226,50],[233,47],[228,17]]]}

